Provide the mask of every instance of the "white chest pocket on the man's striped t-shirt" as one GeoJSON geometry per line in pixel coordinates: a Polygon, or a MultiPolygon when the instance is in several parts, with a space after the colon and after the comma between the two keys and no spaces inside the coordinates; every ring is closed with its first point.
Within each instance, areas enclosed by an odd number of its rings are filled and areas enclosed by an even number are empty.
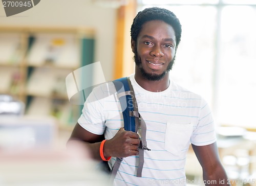
{"type": "Polygon", "coordinates": [[[189,147],[193,125],[169,123],[166,124],[164,149],[175,156],[184,154],[189,147]]]}

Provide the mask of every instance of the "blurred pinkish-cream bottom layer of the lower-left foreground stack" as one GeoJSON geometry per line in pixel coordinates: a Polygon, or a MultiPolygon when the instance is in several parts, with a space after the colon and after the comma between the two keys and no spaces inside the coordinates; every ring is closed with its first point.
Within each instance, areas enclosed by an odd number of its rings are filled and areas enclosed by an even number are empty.
{"type": "Polygon", "coordinates": [[[90,158],[73,152],[53,150],[0,151],[1,186],[108,185],[90,158]]]}

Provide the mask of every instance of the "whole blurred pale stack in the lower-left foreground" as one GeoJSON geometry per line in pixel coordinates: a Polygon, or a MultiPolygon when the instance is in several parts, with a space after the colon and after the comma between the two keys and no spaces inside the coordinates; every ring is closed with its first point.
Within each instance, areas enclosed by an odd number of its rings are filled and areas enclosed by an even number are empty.
{"type": "Polygon", "coordinates": [[[23,115],[24,105],[10,96],[0,96],[0,103],[1,186],[108,185],[86,147],[59,149],[55,118],[23,115]]]}

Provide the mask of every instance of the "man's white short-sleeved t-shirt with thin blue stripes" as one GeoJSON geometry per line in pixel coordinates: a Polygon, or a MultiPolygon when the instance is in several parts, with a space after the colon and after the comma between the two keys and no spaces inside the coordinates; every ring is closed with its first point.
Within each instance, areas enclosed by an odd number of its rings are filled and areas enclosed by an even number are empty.
{"type": "MultiPolygon", "coordinates": [[[[136,177],[138,156],[123,158],[114,185],[186,185],[185,159],[189,144],[216,142],[214,120],[202,97],[170,80],[161,92],[143,89],[130,76],[139,113],[146,123],[147,147],[142,177],[136,177]]],[[[112,82],[96,87],[88,97],[78,123],[94,134],[112,138],[123,127],[119,101],[112,82]]],[[[138,131],[140,134],[140,129],[138,131]]],[[[109,161],[110,167],[116,158],[109,161]]]]}

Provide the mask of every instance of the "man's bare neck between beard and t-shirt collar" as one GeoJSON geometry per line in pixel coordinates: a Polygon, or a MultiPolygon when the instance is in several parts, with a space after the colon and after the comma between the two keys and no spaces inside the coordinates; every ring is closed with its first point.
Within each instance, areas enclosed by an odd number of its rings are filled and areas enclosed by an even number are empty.
{"type": "Polygon", "coordinates": [[[142,88],[144,88],[148,91],[153,91],[153,92],[160,92],[160,91],[166,90],[170,83],[169,82],[169,72],[167,72],[165,74],[163,79],[161,79],[159,81],[151,81],[151,80],[147,80],[146,78],[144,78],[141,75],[140,70],[138,68],[136,68],[134,78],[135,78],[136,82],[142,88]]]}

